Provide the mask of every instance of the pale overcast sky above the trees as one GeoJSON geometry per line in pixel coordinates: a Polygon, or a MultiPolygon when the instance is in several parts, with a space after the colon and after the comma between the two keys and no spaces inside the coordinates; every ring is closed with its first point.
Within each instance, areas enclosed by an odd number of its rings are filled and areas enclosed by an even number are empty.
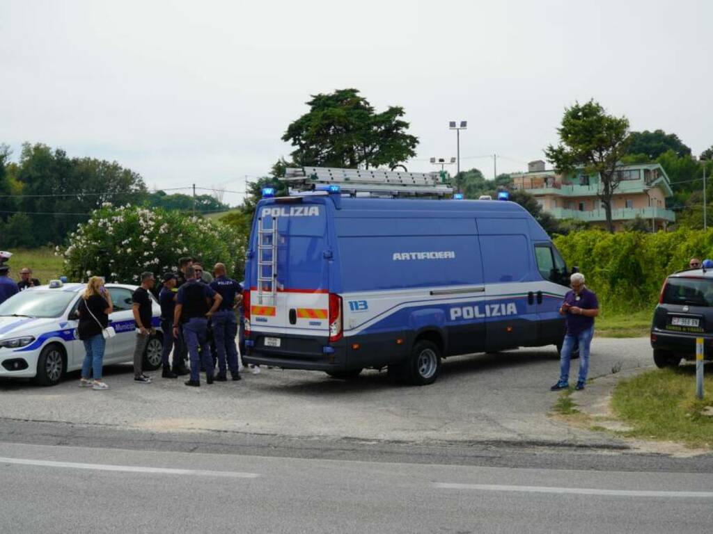
{"type": "Polygon", "coordinates": [[[414,171],[456,155],[448,120],[468,120],[461,169],[523,170],[589,98],[699,154],[712,52],[708,0],[2,0],[0,142],[242,192],[289,157],[309,95],[354,87],[404,107],[414,171]]]}

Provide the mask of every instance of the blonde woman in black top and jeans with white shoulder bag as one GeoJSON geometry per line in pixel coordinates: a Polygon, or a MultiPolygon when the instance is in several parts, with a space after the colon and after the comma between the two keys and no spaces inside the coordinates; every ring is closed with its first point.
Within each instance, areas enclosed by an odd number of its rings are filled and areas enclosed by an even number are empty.
{"type": "Polygon", "coordinates": [[[89,278],[87,288],[79,299],[79,325],[77,332],[79,339],[84,342],[86,356],[82,364],[82,377],[79,381],[80,387],[92,389],[109,389],[108,385],[101,379],[101,369],[104,359],[104,339],[103,330],[109,325],[109,314],[113,311],[111,295],[104,287],[104,279],[101,276],[89,278]],[[89,379],[89,372],[93,370],[93,381],[89,379]]]}

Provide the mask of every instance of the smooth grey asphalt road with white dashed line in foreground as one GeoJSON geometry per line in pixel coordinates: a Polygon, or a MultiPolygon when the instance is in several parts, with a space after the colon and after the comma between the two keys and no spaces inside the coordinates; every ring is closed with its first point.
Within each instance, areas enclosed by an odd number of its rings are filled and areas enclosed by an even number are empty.
{"type": "Polygon", "coordinates": [[[711,473],[0,444],[0,533],[701,533],[711,473]]]}

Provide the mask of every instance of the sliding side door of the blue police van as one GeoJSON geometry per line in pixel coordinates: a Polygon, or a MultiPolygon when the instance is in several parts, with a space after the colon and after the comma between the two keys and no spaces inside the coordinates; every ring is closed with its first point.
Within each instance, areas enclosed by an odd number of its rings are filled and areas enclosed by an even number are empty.
{"type": "Polygon", "coordinates": [[[539,339],[526,219],[478,219],[483,257],[487,350],[535,345],[539,339]]]}

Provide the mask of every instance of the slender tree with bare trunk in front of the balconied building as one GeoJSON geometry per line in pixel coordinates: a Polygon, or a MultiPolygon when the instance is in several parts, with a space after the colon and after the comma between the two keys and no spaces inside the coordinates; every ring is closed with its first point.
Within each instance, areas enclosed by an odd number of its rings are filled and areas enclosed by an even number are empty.
{"type": "Polygon", "coordinates": [[[599,175],[601,187],[597,197],[604,204],[607,229],[613,233],[612,197],[620,182],[617,167],[626,154],[629,120],[607,115],[599,103],[589,100],[565,108],[557,131],[560,144],[549,145],[545,155],[557,172],[569,174],[582,169],[585,174],[599,175]]]}

